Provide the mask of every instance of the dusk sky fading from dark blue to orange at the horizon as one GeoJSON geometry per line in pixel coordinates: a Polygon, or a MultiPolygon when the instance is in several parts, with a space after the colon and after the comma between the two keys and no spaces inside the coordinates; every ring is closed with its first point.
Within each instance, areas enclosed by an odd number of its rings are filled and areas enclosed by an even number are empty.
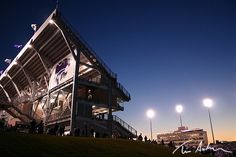
{"type": "MultiPolygon", "coordinates": [[[[1,69],[55,3],[1,1],[1,69]]],[[[236,1],[61,0],[59,8],[130,91],[118,115],[138,131],[149,133],[148,108],[156,110],[155,133],[176,129],[176,103],[185,125],[209,130],[201,101],[211,97],[216,139],[236,140],[236,1]]]]}

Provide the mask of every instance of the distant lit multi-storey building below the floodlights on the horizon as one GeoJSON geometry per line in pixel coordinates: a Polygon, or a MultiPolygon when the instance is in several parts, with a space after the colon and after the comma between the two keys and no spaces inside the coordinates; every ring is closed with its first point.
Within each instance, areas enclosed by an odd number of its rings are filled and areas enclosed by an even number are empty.
{"type": "Polygon", "coordinates": [[[179,146],[183,144],[184,142],[188,142],[185,146],[187,147],[197,147],[200,142],[202,141],[202,144],[206,146],[208,144],[207,140],[207,132],[203,129],[193,129],[188,130],[188,127],[178,127],[177,131],[174,131],[172,133],[164,133],[164,134],[158,134],[157,135],[157,142],[161,143],[162,140],[165,144],[170,143],[171,141],[174,142],[175,146],[179,146]]]}

